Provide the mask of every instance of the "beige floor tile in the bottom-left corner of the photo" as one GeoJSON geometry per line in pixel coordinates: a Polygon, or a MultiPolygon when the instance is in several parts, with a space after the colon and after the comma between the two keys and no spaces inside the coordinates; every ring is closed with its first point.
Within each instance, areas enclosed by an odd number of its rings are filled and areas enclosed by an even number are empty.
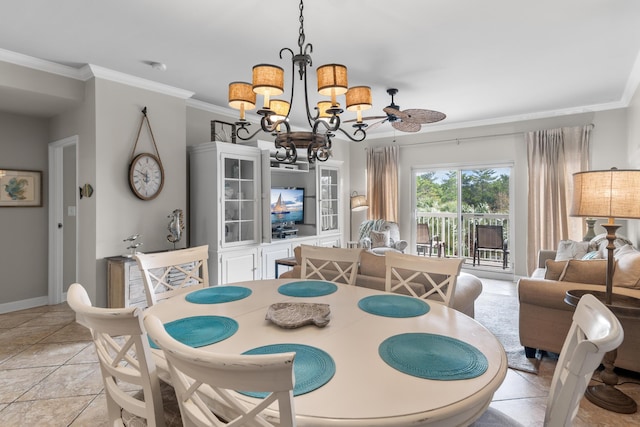
{"type": "Polygon", "coordinates": [[[92,399],[93,396],[74,396],[12,403],[0,412],[0,425],[68,426],[92,399]]]}

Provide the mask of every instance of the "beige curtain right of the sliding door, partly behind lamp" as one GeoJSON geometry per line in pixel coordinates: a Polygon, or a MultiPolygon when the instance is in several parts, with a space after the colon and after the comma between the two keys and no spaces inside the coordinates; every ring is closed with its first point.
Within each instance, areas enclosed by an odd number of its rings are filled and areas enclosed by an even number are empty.
{"type": "Polygon", "coordinates": [[[527,270],[537,267],[540,249],[560,240],[582,240],[582,218],[570,217],[573,174],[589,168],[592,125],[527,132],[529,218],[527,270]]]}

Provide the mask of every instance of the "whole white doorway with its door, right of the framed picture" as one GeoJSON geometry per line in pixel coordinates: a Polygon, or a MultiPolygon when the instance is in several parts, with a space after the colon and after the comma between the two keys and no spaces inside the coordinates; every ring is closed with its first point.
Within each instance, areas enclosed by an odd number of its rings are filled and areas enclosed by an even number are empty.
{"type": "Polygon", "coordinates": [[[78,137],[49,144],[49,304],[78,277],[78,137]]]}

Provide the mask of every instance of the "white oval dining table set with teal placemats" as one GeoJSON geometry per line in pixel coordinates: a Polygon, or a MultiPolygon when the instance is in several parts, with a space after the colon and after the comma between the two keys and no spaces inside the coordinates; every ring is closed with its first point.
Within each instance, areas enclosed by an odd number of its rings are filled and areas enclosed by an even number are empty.
{"type": "MultiPolygon", "coordinates": [[[[251,289],[246,298],[194,304],[179,295],[149,307],[164,323],[190,316],[225,316],[238,330],[215,344],[201,347],[216,353],[240,354],[270,344],[304,344],[324,350],[335,362],[334,376],[323,386],[295,396],[298,426],[464,426],[486,410],[507,373],[507,359],[498,339],[474,319],[436,301],[427,300],[426,314],[394,318],[370,314],[358,302],[384,292],[336,284],[329,295],[291,297],[278,288],[299,279],[233,283],[251,289]],[[330,321],[324,327],[305,325],[288,329],[265,319],[271,304],[306,302],[329,304],[330,321]],[[389,366],[379,347],[391,336],[405,333],[437,334],[479,350],[488,367],[481,375],[462,380],[433,380],[409,375],[389,366]]],[[[388,295],[388,294],[386,294],[388,295]]],[[[168,379],[161,350],[153,350],[160,377],[168,379]]],[[[294,362],[295,363],[295,362],[294,362]]],[[[257,399],[241,394],[249,404],[257,399]]],[[[277,408],[272,410],[277,419],[277,408]]]]}

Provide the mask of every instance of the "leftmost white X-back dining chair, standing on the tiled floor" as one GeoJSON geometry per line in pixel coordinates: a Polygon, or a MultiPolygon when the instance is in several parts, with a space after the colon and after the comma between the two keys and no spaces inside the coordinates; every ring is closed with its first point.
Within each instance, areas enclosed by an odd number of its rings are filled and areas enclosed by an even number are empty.
{"type": "Polygon", "coordinates": [[[181,425],[175,393],[158,379],[141,309],[93,307],[78,283],[69,287],[67,302],[76,312],[76,321],[91,331],[109,425],[181,425]],[[136,389],[141,393],[132,393],[136,389]]]}

